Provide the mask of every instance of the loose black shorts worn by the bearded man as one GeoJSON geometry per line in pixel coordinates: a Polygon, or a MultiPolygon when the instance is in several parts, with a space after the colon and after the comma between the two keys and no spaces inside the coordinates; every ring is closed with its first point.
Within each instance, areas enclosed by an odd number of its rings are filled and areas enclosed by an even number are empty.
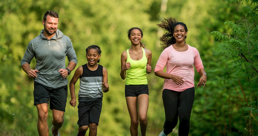
{"type": "Polygon", "coordinates": [[[58,110],[58,111],[65,111],[67,100],[67,85],[52,88],[42,85],[38,82],[34,82],[34,105],[41,103],[48,103],[49,108],[58,110]],[[50,100],[49,100],[50,98],[50,100]]]}

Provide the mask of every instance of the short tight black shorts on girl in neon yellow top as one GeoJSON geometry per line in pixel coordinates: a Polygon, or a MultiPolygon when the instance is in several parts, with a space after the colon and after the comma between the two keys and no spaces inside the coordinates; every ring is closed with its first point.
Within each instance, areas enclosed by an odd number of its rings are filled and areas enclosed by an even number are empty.
{"type": "Polygon", "coordinates": [[[148,85],[125,85],[125,97],[138,97],[141,94],[149,95],[148,85]]]}

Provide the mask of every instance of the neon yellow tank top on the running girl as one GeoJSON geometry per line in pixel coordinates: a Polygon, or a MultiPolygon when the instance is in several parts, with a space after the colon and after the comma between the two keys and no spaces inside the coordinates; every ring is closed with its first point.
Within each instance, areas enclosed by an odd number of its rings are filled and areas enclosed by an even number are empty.
{"type": "MultiPolygon", "coordinates": [[[[142,47],[141,47],[142,48],[142,47]]],[[[126,50],[127,60],[126,62],[130,62],[130,69],[126,70],[126,85],[147,85],[147,77],[146,77],[146,65],[148,59],[145,55],[145,51],[142,48],[143,56],[140,60],[133,60],[129,55],[129,49],[126,50]]]]}

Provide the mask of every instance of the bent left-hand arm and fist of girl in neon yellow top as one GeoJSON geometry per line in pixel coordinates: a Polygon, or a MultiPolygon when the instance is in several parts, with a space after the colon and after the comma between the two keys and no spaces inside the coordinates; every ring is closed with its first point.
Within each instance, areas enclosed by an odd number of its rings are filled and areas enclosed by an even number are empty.
{"type": "Polygon", "coordinates": [[[121,55],[121,72],[120,72],[120,76],[123,80],[126,78],[126,70],[131,67],[130,62],[126,63],[126,59],[127,59],[127,53],[126,51],[124,51],[121,55]]]}

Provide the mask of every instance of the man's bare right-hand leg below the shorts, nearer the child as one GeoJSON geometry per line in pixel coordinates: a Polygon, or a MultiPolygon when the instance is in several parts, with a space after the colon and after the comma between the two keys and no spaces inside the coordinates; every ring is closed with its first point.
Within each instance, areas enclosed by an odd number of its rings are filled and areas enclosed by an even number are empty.
{"type": "Polygon", "coordinates": [[[64,111],[58,111],[53,109],[53,120],[52,120],[52,124],[53,124],[53,130],[52,130],[52,134],[57,135],[58,133],[58,129],[60,129],[60,127],[62,127],[64,123],[64,111]]]}

